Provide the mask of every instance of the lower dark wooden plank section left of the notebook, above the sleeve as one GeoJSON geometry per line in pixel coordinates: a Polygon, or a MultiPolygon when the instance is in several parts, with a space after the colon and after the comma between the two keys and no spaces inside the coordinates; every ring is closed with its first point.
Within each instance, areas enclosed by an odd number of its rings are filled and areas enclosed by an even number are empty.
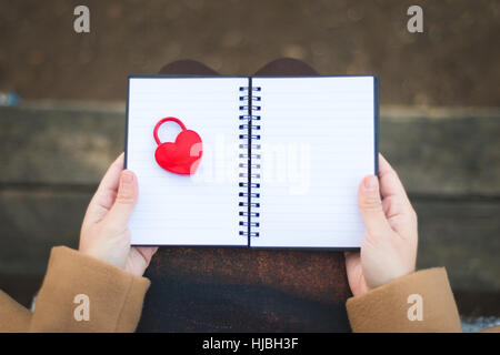
{"type": "Polygon", "coordinates": [[[42,275],[52,246],[78,247],[90,196],[71,191],[0,191],[1,273],[42,275]]]}

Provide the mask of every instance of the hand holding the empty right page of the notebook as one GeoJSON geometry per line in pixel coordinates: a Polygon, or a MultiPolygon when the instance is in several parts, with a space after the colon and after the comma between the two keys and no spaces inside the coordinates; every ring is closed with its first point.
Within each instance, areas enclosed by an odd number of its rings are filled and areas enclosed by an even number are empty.
{"type": "Polygon", "coordinates": [[[379,178],[366,176],[359,185],[358,205],[366,227],[361,252],[346,253],[354,296],[414,272],[418,243],[417,213],[382,154],[379,178]]]}

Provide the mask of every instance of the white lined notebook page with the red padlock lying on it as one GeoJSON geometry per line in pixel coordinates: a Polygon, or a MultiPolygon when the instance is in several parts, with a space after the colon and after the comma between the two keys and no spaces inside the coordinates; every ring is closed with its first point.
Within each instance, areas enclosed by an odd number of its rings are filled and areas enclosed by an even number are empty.
{"type": "MultiPolygon", "coordinates": [[[[239,87],[247,78],[130,78],[127,168],[139,181],[130,221],[132,244],[247,245],[239,235],[239,87]],[[154,160],[156,123],[181,120],[202,139],[196,174],[178,175],[154,160]]],[[[161,142],[174,141],[179,125],[167,122],[161,142]]]]}

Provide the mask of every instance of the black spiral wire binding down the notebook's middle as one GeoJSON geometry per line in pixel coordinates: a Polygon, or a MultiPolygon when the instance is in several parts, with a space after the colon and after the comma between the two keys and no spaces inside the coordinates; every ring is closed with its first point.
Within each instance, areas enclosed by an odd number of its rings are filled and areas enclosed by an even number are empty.
{"type": "Polygon", "coordinates": [[[249,87],[240,87],[239,105],[239,234],[247,236],[250,244],[250,237],[260,235],[260,130],[261,120],[259,114],[261,110],[260,102],[262,98],[258,94],[260,87],[252,87],[249,79],[249,87]],[[243,103],[244,102],[244,103],[243,103]]]}

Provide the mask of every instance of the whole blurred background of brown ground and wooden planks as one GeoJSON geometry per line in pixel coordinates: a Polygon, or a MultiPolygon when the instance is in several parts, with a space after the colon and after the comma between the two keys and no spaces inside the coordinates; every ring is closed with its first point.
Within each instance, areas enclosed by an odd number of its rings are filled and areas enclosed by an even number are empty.
{"type": "Polygon", "coordinates": [[[380,151],[446,266],[466,331],[500,323],[500,2],[0,0],[0,288],[29,305],[50,247],[78,245],[123,150],[127,75],[196,59],[252,74],[291,57],[380,77],[380,151]],[[90,9],[76,33],[73,9],[90,9]],[[423,33],[407,9],[423,9],[423,33]],[[19,101],[20,98],[20,101],[19,101]]]}

